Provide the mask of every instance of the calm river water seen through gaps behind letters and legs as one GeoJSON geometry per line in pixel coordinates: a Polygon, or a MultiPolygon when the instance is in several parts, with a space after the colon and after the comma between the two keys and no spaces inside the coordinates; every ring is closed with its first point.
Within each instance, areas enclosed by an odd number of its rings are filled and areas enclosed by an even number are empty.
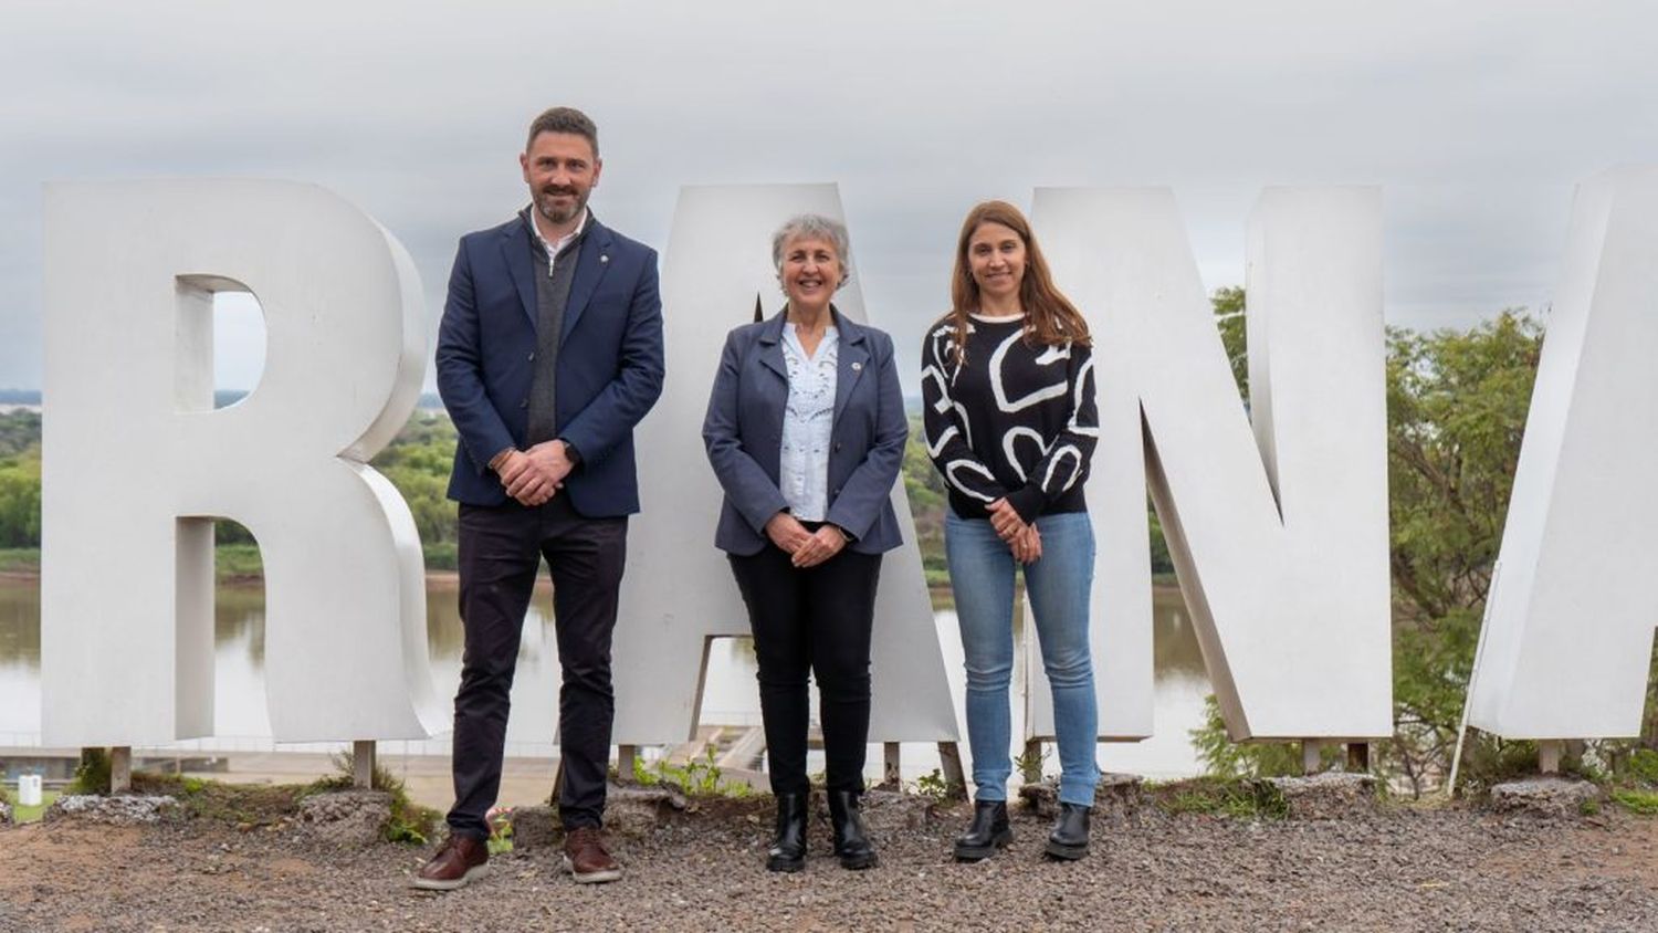
{"type": "MultiPolygon", "coordinates": [[[[542,583],[524,620],[519,668],[512,684],[512,718],[507,724],[507,754],[549,754],[554,747],[559,653],[550,608],[552,592],[542,583]]],[[[264,590],[224,587],[217,592],[216,610],[214,732],[224,739],[269,737],[270,718],[264,699],[264,590]]],[[[1149,777],[1195,774],[1200,767],[1192,756],[1187,731],[1200,724],[1204,696],[1209,693],[1202,653],[1177,592],[1159,590],[1152,600],[1152,613],[1157,736],[1137,744],[1101,746],[1101,767],[1149,777]]],[[[1015,620],[1021,618],[1023,613],[1015,613],[1015,620]]],[[[962,648],[955,631],[955,613],[940,612],[935,621],[960,713],[962,648]]],[[[438,696],[448,699],[459,683],[464,648],[458,587],[453,580],[433,578],[426,583],[426,643],[431,650],[438,696]]],[[[1015,645],[1021,643],[1015,640],[1015,645]]],[[[1016,665],[1015,671],[1023,671],[1023,665],[1016,665]]],[[[1015,714],[1020,706],[1013,704],[1015,714]]],[[[701,721],[731,726],[759,723],[754,653],[746,638],[715,640],[708,658],[701,721]]],[[[35,580],[0,578],[0,746],[36,744],[38,731],[40,590],[35,580]]],[[[410,746],[414,754],[448,754],[446,741],[410,742],[410,746]]],[[[937,756],[930,754],[928,747],[917,747],[914,761],[912,752],[905,752],[907,772],[925,774],[933,767],[937,756]]]]}

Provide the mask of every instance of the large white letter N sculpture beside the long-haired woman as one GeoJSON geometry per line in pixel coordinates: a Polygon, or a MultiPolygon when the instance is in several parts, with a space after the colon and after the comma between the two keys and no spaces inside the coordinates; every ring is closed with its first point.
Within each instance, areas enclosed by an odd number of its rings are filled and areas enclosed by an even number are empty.
{"type": "MultiPolygon", "coordinates": [[[[1262,196],[1247,275],[1253,437],[1172,192],[1041,189],[1033,214],[1099,355],[1088,497],[1101,732],[1151,734],[1149,471],[1232,737],[1391,734],[1378,192],[1262,196]]],[[[1045,734],[1040,670],[1033,683],[1045,734]]]]}

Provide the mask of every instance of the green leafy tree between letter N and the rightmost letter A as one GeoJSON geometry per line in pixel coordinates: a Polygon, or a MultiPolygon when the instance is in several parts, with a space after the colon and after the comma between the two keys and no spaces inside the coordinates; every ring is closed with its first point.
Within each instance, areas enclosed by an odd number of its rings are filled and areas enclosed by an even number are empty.
{"type": "MultiPolygon", "coordinates": [[[[1542,325],[1509,310],[1469,331],[1388,333],[1394,739],[1419,794],[1449,769],[1502,544],[1542,325]]],[[[1496,766],[1494,737],[1469,762],[1496,766]]]]}

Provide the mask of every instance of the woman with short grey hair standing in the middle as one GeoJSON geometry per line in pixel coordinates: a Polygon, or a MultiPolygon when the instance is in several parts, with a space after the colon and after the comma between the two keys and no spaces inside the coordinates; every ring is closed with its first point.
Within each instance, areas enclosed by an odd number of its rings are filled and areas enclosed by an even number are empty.
{"type": "Polygon", "coordinates": [[[869,645],[880,555],[899,547],[892,484],[909,421],[892,338],[832,303],[846,227],[802,214],[771,240],[788,302],[726,336],[703,441],[725,489],[715,545],[748,605],[778,832],[766,868],[806,867],[807,674],[822,721],[834,853],[875,865],[864,829],[869,645]]]}

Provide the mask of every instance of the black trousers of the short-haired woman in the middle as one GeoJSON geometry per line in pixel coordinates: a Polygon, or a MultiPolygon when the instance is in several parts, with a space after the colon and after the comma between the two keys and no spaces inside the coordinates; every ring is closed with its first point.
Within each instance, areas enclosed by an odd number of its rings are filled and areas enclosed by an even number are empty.
{"type": "Polygon", "coordinates": [[[730,555],[759,661],[759,713],[773,794],[804,794],[807,673],[817,678],[831,790],[864,789],[869,744],[869,640],[879,554],[842,550],[806,570],[776,545],[730,555]]]}

